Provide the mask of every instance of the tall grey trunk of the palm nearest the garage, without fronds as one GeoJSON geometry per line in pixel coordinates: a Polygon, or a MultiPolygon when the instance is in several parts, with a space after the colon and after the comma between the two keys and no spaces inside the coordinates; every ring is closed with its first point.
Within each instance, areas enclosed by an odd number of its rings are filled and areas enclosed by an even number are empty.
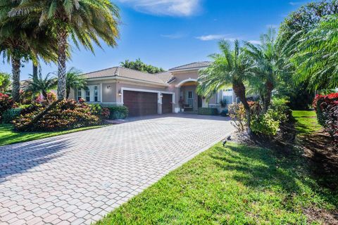
{"type": "Polygon", "coordinates": [[[65,50],[67,49],[68,32],[65,28],[58,30],[58,100],[65,98],[65,50]]]}

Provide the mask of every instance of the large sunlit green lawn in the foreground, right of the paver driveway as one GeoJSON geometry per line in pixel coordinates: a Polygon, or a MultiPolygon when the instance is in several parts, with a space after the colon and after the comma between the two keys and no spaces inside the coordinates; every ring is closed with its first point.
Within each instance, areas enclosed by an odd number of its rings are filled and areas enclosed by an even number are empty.
{"type": "Polygon", "coordinates": [[[276,154],[219,143],[97,224],[307,224],[303,210],[337,209],[298,155],[276,154]]]}

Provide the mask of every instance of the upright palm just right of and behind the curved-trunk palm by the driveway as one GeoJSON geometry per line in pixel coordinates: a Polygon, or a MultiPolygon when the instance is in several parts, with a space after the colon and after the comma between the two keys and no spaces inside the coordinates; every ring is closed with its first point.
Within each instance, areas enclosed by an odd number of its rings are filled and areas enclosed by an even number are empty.
{"type": "Polygon", "coordinates": [[[250,84],[261,96],[263,113],[268,110],[273,90],[276,88],[284,68],[282,47],[276,41],[276,30],[269,28],[266,34],[261,35],[261,44],[245,44],[244,53],[251,58],[253,65],[249,68],[252,76],[250,84]]]}

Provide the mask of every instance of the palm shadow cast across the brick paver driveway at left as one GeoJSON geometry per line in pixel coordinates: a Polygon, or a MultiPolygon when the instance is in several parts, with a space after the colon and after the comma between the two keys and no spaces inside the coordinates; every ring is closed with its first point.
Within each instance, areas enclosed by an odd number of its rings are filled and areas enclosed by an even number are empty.
{"type": "Polygon", "coordinates": [[[27,172],[27,169],[37,167],[59,158],[64,150],[72,147],[71,139],[54,137],[39,139],[29,143],[18,143],[0,147],[0,183],[6,181],[7,176],[27,172]]]}

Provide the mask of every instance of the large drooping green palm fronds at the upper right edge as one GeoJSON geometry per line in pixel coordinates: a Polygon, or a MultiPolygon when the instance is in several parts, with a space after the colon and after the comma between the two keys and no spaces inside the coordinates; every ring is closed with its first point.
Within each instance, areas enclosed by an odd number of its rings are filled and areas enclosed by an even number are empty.
{"type": "Polygon", "coordinates": [[[323,18],[303,33],[292,56],[296,81],[308,82],[311,90],[338,86],[338,15],[323,18]]]}

